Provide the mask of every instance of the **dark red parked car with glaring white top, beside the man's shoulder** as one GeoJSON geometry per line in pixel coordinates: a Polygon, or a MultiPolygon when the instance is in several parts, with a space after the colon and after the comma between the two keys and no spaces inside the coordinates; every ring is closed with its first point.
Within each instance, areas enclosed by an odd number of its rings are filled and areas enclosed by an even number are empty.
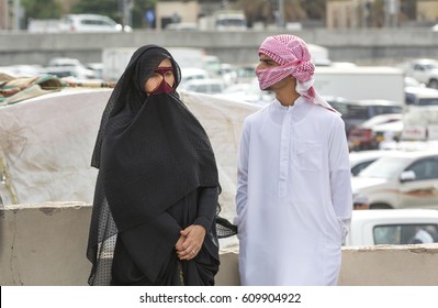
{"type": "Polygon", "coordinates": [[[393,123],[402,119],[402,113],[379,114],[352,128],[348,133],[348,144],[350,148],[356,151],[379,148],[379,143],[382,140],[380,136],[377,138],[374,129],[379,131],[381,124],[393,123]]]}

